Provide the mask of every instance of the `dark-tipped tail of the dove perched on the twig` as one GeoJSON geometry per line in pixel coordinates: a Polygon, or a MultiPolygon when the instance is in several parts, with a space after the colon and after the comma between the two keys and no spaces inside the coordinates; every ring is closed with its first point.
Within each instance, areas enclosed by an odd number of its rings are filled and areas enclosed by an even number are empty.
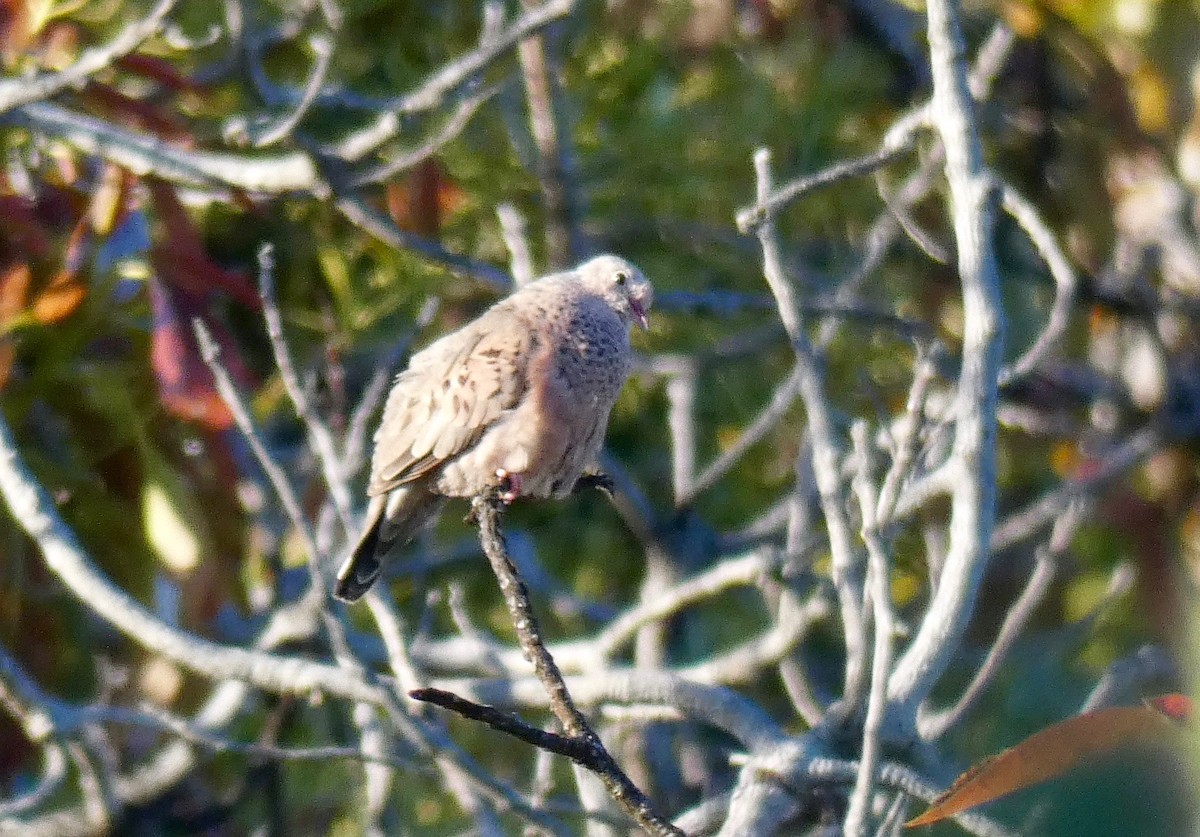
{"type": "Polygon", "coordinates": [[[337,571],[334,596],[343,602],[360,600],[379,577],[392,547],[413,540],[444,502],[444,498],[418,484],[401,486],[371,498],[359,542],[337,571]]]}

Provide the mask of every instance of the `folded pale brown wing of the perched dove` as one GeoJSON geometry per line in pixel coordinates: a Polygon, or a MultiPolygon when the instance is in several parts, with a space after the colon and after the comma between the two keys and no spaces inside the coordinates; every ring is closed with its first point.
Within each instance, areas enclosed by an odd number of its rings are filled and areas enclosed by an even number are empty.
{"type": "Polygon", "coordinates": [[[367,494],[419,480],[474,444],[521,402],[544,345],[536,327],[498,306],[414,355],[388,397],[367,494]]]}

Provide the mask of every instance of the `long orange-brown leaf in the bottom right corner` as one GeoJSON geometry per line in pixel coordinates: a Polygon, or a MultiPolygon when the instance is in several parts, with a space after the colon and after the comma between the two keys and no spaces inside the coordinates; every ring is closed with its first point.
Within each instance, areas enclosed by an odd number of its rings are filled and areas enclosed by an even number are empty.
{"type": "Polygon", "coordinates": [[[934,800],[929,811],[906,827],[930,825],[1061,776],[1090,758],[1124,743],[1152,741],[1170,727],[1157,709],[1115,706],[1085,712],[1046,727],[998,755],[984,759],[954,779],[949,790],[934,800]]]}

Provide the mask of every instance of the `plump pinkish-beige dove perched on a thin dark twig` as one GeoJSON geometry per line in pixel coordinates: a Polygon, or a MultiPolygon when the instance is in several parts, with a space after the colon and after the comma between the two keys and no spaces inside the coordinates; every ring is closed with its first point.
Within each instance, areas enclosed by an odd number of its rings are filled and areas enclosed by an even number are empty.
{"type": "Polygon", "coordinates": [[[599,255],[500,300],[413,355],[374,436],[366,522],[334,595],[356,601],[448,498],[563,498],[593,468],[654,290],[599,255]]]}

